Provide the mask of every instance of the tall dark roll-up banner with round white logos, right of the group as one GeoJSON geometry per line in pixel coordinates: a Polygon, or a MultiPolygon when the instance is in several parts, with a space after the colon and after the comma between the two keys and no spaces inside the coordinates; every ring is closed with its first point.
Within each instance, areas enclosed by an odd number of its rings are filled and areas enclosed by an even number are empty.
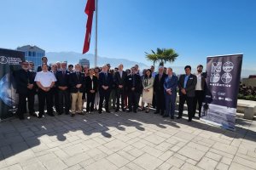
{"type": "Polygon", "coordinates": [[[206,98],[201,119],[235,130],[242,54],[207,57],[206,98]]]}

